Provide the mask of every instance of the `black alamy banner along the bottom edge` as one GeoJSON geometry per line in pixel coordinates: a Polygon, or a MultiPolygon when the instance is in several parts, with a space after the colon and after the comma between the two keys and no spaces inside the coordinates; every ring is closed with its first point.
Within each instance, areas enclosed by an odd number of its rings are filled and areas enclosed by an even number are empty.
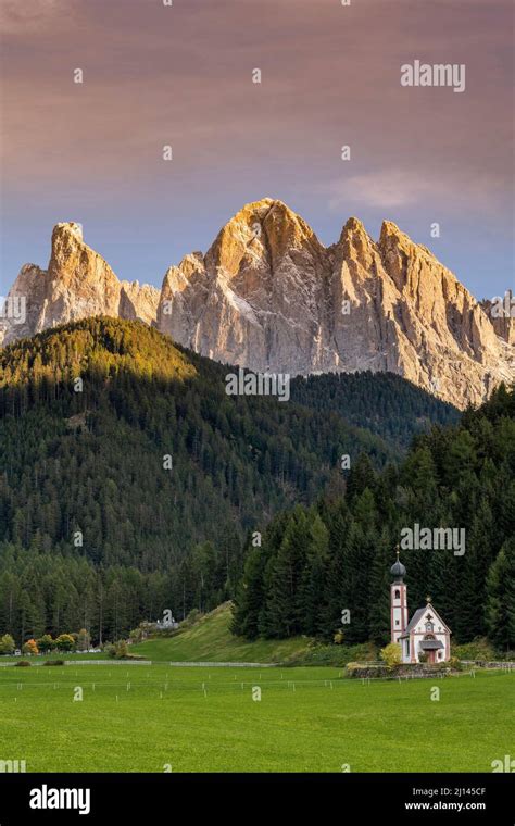
{"type": "MultiPolygon", "coordinates": [[[[428,754],[428,759],[430,755],[428,754]]],[[[142,823],[215,819],[262,826],[310,810],[316,822],[359,817],[403,823],[514,824],[514,777],[499,774],[0,774],[0,826],[29,823],[142,823]],[[47,789],[43,796],[45,787],[47,789]],[[78,809],[34,809],[30,801],[78,809]],[[83,797],[79,798],[79,790],[83,797]],[[461,804],[461,809],[459,805],[461,804]],[[237,809],[241,805],[240,809],[237,809]]],[[[378,823],[382,823],[378,821],[378,823]]]]}

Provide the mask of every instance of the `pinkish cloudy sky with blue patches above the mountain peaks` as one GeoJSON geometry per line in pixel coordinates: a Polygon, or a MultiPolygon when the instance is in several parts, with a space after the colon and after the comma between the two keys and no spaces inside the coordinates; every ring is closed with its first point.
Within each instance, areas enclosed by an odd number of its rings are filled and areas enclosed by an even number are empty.
{"type": "Polygon", "coordinates": [[[265,196],[326,243],[388,217],[478,297],[513,286],[511,2],[2,0],[0,23],[1,290],[59,221],[159,284],[265,196]],[[465,64],[465,92],[401,87],[415,59],[465,64]]]}

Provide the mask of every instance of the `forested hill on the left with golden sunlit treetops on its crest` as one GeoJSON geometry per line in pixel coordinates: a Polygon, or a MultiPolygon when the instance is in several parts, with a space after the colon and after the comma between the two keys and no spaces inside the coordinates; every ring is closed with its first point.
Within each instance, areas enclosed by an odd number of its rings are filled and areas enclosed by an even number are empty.
{"type": "Polygon", "coordinates": [[[214,608],[235,595],[246,534],[342,491],[343,454],[379,471],[455,416],[394,376],[349,377],[347,402],[338,376],[296,379],[281,403],[228,397],[226,374],[104,317],[0,352],[2,630],[115,638],[165,608],[214,608]]]}

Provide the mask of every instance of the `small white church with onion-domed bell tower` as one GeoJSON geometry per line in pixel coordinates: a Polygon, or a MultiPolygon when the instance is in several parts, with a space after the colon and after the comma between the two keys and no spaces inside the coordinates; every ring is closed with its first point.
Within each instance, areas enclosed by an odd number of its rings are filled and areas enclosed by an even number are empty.
{"type": "Polygon", "coordinates": [[[407,595],[404,577],[406,568],[399,560],[391,566],[393,576],[390,597],[391,641],[401,646],[403,663],[419,663],[425,654],[428,663],[443,663],[451,659],[451,631],[426,597],[425,608],[415,611],[407,621],[407,595]]]}

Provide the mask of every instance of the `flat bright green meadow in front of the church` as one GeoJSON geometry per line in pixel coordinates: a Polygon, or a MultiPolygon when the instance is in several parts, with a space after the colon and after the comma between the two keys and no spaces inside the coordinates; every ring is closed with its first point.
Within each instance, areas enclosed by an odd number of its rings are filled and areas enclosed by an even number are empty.
{"type": "Polygon", "coordinates": [[[0,759],[27,772],[490,772],[513,753],[514,686],[507,672],[363,685],[316,667],[3,667],[0,759]]]}

